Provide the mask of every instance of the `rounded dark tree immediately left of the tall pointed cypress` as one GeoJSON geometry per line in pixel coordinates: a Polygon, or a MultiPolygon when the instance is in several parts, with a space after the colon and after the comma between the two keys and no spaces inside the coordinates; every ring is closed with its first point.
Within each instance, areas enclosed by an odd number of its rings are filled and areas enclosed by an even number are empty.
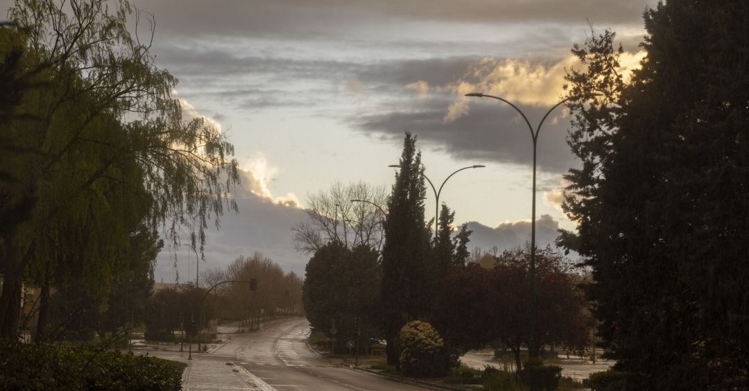
{"type": "MultiPolygon", "coordinates": [[[[348,249],[338,241],[315,252],[307,263],[302,288],[304,311],[314,330],[341,341],[357,341],[358,332],[365,349],[370,345],[367,342],[381,338],[382,268],[377,258],[369,246],[348,249]],[[330,333],[333,322],[336,335],[330,333]]],[[[343,344],[336,347],[346,350],[343,344]]]]}

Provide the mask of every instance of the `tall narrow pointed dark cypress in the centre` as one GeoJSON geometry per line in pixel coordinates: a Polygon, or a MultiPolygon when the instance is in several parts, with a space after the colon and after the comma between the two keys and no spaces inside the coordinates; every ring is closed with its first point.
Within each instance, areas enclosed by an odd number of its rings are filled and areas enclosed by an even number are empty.
{"type": "Polygon", "coordinates": [[[385,219],[382,250],[382,305],[387,361],[399,365],[398,333],[428,312],[428,257],[431,233],[424,223],[424,166],[416,137],[406,133],[385,219]]]}

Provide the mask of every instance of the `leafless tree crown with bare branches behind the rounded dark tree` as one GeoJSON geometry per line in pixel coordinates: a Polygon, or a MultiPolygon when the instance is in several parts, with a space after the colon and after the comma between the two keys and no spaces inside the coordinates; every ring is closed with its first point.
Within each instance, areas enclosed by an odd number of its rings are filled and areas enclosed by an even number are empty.
{"type": "Polygon", "coordinates": [[[309,196],[307,203],[309,220],[293,228],[297,251],[312,253],[334,240],[348,248],[366,245],[380,250],[383,207],[387,204],[385,187],[335,182],[330,189],[309,196]]]}

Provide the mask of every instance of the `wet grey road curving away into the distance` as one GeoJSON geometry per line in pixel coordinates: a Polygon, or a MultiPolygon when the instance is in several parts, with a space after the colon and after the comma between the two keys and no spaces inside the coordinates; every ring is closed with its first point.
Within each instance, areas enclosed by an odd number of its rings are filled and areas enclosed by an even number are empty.
{"type": "Polygon", "coordinates": [[[311,351],[309,323],[292,318],[258,333],[233,334],[212,353],[151,351],[189,363],[184,390],[423,390],[366,372],[333,366],[311,351]]]}

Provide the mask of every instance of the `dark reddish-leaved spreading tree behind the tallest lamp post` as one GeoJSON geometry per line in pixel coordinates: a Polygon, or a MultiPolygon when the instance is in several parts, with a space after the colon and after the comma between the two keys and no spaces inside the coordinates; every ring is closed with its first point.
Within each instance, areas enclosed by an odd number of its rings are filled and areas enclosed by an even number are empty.
{"type": "MultiPolygon", "coordinates": [[[[549,247],[536,254],[539,345],[586,345],[592,322],[587,303],[564,258],[549,247]]],[[[463,350],[500,341],[515,354],[530,340],[530,246],[502,252],[493,269],[470,264],[443,280],[434,325],[449,345],[463,350]],[[466,321],[469,319],[470,321],[466,321]]]]}

